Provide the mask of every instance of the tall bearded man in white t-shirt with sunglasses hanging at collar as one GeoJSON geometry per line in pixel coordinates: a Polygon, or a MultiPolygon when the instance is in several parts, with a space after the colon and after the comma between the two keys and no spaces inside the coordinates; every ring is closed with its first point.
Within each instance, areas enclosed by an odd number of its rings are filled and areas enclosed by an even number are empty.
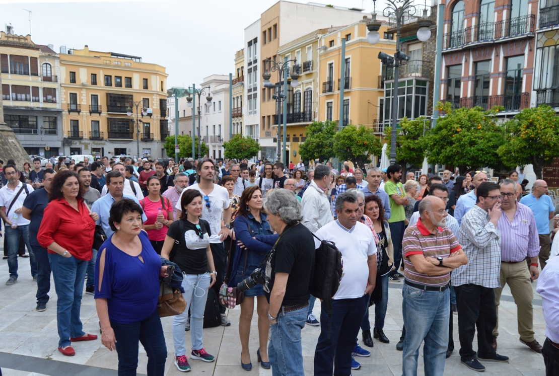
{"type": "MultiPolygon", "coordinates": [[[[237,167],[239,168],[239,167],[237,167]]],[[[182,213],[181,200],[184,192],[190,189],[197,189],[202,193],[202,219],[210,223],[210,248],[214,257],[215,271],[217,279],[212,288],[219,296],[219,289],[225,277],[225,260],[227,253],[223,241],[226,237],[231,236],[231,206],[229,204],[229,192],[221,185],[214,184],[216,177],[215,162],[210,158],[204,158],[196,167],[198,174],[198,184],[191,185],[183,189],[181,197],[179,197],[176,208],[177,217],[182,213]],[[221,220],[223,219],[223,222],[221,220]],[[222,225],[223,223],[223,225],[222,225]]],[[[184,218],[186,220],[186,218],[184,218]]],[[[211,270],[210,270],[211,272],[211,270]]],[[[225,316],[225,307],[220,306],[221,325],[229,326],[231,322],[225,316]]]]}

